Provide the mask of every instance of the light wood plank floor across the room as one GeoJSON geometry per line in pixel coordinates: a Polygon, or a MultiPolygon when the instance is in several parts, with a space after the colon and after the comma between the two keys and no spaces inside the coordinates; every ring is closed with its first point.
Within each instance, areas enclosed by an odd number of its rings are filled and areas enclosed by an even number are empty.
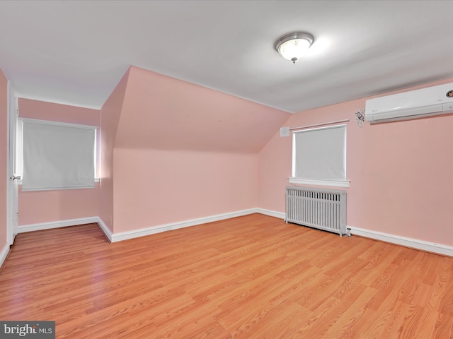
{"type": "Polygon", "coordinates": [[[453,258],[264,215],[109,244],[18,234],[0,320],[57,338],[453,338],[453,258]]]}

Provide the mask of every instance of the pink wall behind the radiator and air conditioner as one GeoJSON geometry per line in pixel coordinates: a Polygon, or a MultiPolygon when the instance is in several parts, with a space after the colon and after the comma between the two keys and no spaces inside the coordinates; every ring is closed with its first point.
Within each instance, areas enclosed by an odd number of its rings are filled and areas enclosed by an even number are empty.
{"type": "MultiPolygon", "coordinates": [[[[418,88],[449,82],[453,79],[418,88]]],[[[285,126],[351,119],[347,127],[348,226],[452,246],[453,115],[365,123],[359,128],[354,113],[365,108],[365,100],[299,112],[285,126]]],[[[258,207],[285,211],[291,147],[291,137],[280,138],[276,133],[261,150],[258,207]]]]}

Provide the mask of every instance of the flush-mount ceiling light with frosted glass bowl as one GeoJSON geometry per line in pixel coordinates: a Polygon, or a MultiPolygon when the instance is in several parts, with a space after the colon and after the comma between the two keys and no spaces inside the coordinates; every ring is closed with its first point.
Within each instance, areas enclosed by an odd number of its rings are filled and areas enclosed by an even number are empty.
{"type": "Polygon", "coordinates": [[[304,56],[312,43],[313,37],[308,33],[289,33],[275,42],[275,49],[282,57],[296,64],[297,59],[304,56]]]}

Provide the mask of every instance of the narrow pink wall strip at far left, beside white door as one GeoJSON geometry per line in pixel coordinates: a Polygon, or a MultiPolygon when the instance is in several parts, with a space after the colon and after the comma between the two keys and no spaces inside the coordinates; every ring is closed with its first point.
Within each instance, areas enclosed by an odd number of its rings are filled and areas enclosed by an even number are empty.
{"type": "Polygon", "coordinates": [[[8,80],[0,69],[0,251],[7,244],[6,239],[6,177],[7,167],[6,136],[8,133],[8,80]]]}

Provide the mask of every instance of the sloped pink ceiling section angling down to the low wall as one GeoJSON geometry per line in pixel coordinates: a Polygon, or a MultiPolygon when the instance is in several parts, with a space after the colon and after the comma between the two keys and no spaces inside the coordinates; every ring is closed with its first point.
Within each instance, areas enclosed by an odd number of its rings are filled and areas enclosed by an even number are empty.
{"type": "Polygon", "coordinates": [[[258,153],[291,116],[134,66],[120,114],[115,148],[227,153],[258,153]]]}

